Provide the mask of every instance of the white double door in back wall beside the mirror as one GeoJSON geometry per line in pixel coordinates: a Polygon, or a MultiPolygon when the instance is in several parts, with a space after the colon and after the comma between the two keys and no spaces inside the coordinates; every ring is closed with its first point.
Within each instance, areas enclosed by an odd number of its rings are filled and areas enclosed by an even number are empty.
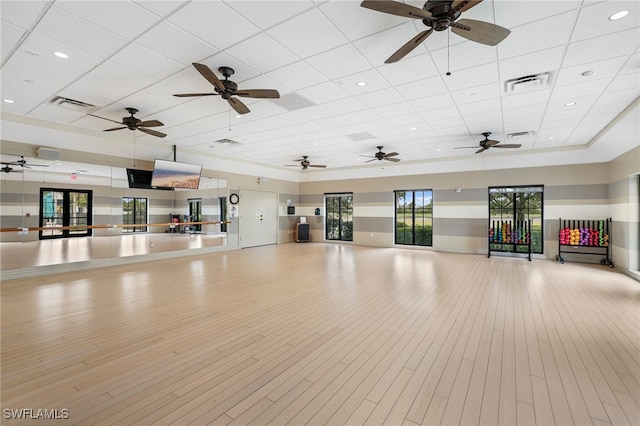
{"type": "Polygon", "coordinates": [[[240,248],[278,242],[278,194],[241,190],[238,206],[240,248]]]}

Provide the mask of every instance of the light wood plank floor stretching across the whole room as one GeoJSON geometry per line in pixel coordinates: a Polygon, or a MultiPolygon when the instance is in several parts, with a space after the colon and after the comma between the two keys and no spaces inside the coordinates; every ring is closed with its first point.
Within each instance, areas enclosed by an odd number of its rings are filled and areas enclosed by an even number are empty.
{"type": "Polygon", "coordinates": [[[320,243],[3,282],[2,423],[638,425],[639,289],[320,243]]]}

